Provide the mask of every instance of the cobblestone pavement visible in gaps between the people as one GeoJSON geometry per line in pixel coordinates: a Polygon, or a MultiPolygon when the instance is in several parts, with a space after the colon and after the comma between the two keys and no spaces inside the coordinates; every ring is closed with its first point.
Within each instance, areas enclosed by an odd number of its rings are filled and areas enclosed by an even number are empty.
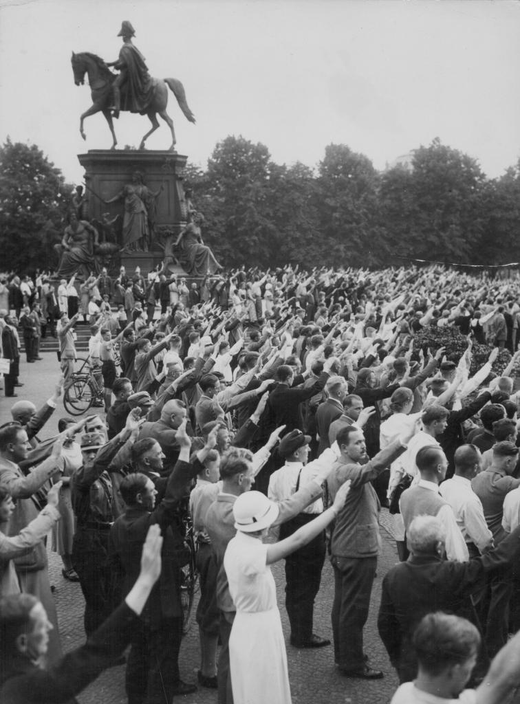
{"type": "MultiPolygon", "coordinates": [[[[25,386],[18,388],[18,398],[27,398],[37,406],[51,396],[59,375],[56,356],[46,353],[42,362],[27,365],[20,363],[20,381],[25,386]]],[[[0,424],[10,420],[9,408],[13,399],[5,398],[0,391],[0,424]]],[[[58,405],[49,423],[41,433],[42,438],[56,432],[58,418],[64,414],[63,406],[58,405]]],[[[381,515],[383,529],[383,551],[378,561],[378,575],[374,582],[369,621],[365,627],[365,651],[373,667],[385,672],[384,679],[363,681],[345,679],[335,670],[332,646],[318,650],[296,650],[289,645],[289,626],[284,607],[285,579],[283,565],[275,565],[273,574],[278,590],[278,605],[283,622],[283,631],[287,643],[287,660],[294,704],[386,704],[397,688],[397,677],[390,666],[385,648],[377,634],[377,611],[380,600],[380,585],[384,574],[397,562],[395,543],[384,527],[390,528],[387,512],[381,515]]],[[[61,562],[57,555],[49,553],[49,572],[51,584],[56,590],[54,596],[58,608],[58,622],[63,650],[79,646],[84,640],[82,627],[83,598],[80,586],[63,579],[61,562]]],[[[320,636],[332,639],[330,627],[330,609],[333,601],[333,571],[329,562],[323,568],[321,589],[316,600],[314,612],[314,630],[320,636]]],[[[180,653],[180,671],[185,681],[195,681],[199,666],[198,631],[196,624],[182,641],[180,653]]],[[[113,667],[101,675],[78,697],[80,704],[125,704],[123,666],[113,667]]],[[[186,704],[209,704],[216,702],[216,691],[199,689],[196,693],[183,698],[186,704]]],[[[268,703],[266,703],[268,704],[268,703]]]]}

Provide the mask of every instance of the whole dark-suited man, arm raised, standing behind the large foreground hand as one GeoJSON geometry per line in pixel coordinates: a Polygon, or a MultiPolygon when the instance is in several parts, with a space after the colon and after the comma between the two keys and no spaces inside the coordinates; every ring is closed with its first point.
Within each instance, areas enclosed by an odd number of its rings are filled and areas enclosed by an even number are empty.
{"type": "MultiPolygon", "coordinates": [[[[152,589],[142,629],[137,629],[128,657],[126,689],[129,704],[141,704],[144,700],[171,702],[173,696],[190,694],[197,689],[180,679],[178,665],[182,639],[180,567],[185,549],[178,508],[182,498],[189,493],[187,484],[196,476],[199,465],[190,465],[191,441],[186,434],[186,420],[175,435],[180,447],[179,458],[168,478],[161,503],[154,508],[157,490],[146,474],[128,474],[120,485],[128,509],[116,520],[110,532],[110,560],[120,574],[123,594],[128,592],[139,570],[140,552],[149,526],[158,523],[164,536],[161,577],[152,589]]],[[[199,461],[204,460],[204,453],[202,450],[197,454],[199,461]]]]}

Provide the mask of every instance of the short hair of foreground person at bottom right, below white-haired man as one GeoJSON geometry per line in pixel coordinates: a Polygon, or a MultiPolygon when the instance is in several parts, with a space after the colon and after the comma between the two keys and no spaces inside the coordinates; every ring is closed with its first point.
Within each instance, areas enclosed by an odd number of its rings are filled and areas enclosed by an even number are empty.
{"type": "Polygon", "coordinates": [[[419,666],[435,677],[478,653],[481,636],[465,618],[438,611],[422,618],[413,642],[419,666]]]}

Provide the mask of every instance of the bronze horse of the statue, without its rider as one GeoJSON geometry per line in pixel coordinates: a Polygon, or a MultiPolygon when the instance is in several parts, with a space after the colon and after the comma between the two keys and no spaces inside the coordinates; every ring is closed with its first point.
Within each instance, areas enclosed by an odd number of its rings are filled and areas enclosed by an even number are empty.
{"type": "MultiPolygon", "coordinates": [[[[95,54],[89,54],[87,51],[82,54],[74,54],[73,52],[70,62],[73,67],[75,84],[77,86],[83,85],[85,83],[86,73],[88,75],[91,88],[92,106],[90,106],[89,109],[81,115],[81,136],[83,139],[87,139],[85,131],[83,130],[83,120],[88,118],[89,115],[95,115],[96,113],[101,112],[104,114],[106,122],[109,123],[110,131],[112,133],[112,149],[116,149],[116,144],[118,141],[116,139],[116,132],[113,131],[113,120],[111,114],[111,105],[113,101],[112,83],[116,79],[116,75],[111,72],[102,58],[99,58],[99,56],[96,56],[95,54]]],[[[140,113],[141,115],[148,115],[151,122],[151,130],[142,138],[139,149],[144,149],[144,142],[146,142],[150,134],[155,132],[155,130],[159,127],[159,121],[157,120],[157,113],[159,113],[161,118],[163,118],[163,120],[167,123],[168,127],[170,127],[172,137],[170,149],[171,151],[175,151],[175,142],[177,140],[175,139],[175,130],[173,130],[173,120],[166,112],[166,106],[168,105],[168,87],[175,95],[175,98],[179,103],[179,107],[185,114],[187,120],[190,120],[190,122],[195,122],[194,115],[188,107],[184,87],[180,81],[176,78],[165,78],[163,80],[152,78],[151,81],[154,86],[151,100],[146,111],[140,113]]]]}

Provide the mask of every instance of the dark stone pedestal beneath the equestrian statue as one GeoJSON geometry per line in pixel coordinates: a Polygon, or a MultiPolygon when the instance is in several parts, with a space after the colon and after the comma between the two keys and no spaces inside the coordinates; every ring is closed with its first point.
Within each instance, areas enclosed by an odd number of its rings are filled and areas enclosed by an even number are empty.
{"type": "MultiPolygon", "coordinates": [[[[121,249],[124,245],[124,196],[109,205],[104,201],[120,194],[125,185],[132,182],[135,171],[141,172],[149,191],[156,193],[162,187],[155,199],[156,209],[151,218],[154,225],[150,232],[149,251],[123,251],[118,258],[114,257],[113,268],[123,264],[127,272],[132,272],[140,266],[145,273],[160,264],[165,248],[167,253],[171,251],[172,243],[186,223],[187,206],[180,172],[186,165],[187,156],[171,151],[92,149],[78,154],[78,160],[85,168],[87,219],[99,230],[100,241],[116,241],[121,249]]],[[[174,264],[183,272],[176,262],[168,265],[169,271],[173,272],[174,264]]]]}

